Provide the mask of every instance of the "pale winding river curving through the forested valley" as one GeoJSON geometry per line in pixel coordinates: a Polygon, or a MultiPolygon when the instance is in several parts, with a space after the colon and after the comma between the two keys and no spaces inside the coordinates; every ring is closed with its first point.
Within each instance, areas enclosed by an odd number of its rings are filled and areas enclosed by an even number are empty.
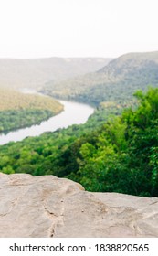
{"type": "Polygon", "coordinates": [[[28,136],[38,136],[45,132],[55,132],[59,128],[68,128],[72,124],[86,123],[94,109],[89,105],[71,102],[59,101],[64,105],[64,111],[58,115],[49,118],[40,124],[32,125],[31,127],[23,128],[0,135],[0,144],[9,142],[22,141],[28,136]]]}

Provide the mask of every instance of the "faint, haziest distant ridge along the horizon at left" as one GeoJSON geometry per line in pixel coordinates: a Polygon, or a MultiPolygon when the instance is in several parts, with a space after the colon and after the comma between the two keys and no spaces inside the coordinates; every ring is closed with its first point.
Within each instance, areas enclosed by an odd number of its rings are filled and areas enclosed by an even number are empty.
{"type": "Polygon", "coordinates": [[[63,80],[104,67],[108,58],[0,59],[0,87],[40,88],[49,80],[63,80]]]}

